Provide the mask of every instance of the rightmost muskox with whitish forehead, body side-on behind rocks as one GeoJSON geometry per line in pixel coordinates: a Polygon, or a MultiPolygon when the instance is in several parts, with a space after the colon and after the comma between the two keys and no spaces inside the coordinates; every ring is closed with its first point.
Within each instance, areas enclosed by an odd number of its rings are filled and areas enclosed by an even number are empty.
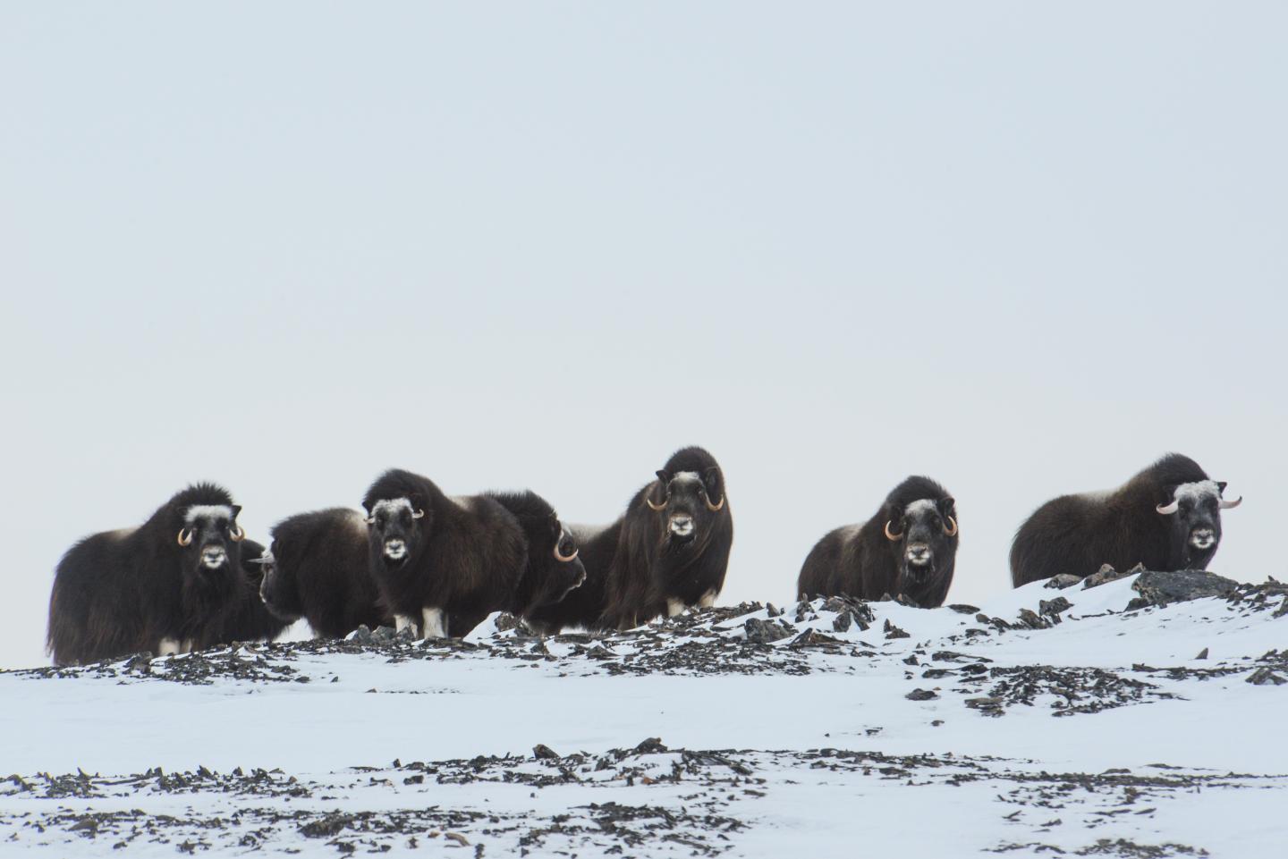
{"type": "Polygon", "coordinates": [[[1221,542],[1225,483],[1198,462],[1168,453],[1112,492],[1047,501],[1011,543],[1015,587],[1059,573],[1090,576],[1104,564],[1126,571],[1206,569],[1221,542]]]}

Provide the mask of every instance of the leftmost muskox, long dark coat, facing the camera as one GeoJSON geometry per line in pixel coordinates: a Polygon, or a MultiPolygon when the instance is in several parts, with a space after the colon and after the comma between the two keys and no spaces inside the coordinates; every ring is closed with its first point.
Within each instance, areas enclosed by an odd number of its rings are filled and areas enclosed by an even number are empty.
{"type": "Polygon", "coordinates": [[[243,592],[240,511],[225,489],[200,483],[138,528],[72,546],[49,598],[54,662],[166,656],[215,643],[243,592]]]}

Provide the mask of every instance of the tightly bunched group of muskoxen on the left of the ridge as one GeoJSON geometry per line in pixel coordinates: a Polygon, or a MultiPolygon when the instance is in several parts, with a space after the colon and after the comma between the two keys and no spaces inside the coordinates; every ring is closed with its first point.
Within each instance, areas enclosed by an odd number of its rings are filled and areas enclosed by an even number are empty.
{"type": "Polygon", "coordinates": [[[600,528],[565,525],[535,492],[448,496],[401,469],[376,478],[361,511],[283,519],[267,549],[240,513],[204,483],[72,546],[49,600],[54,662],[272,640],[300,618],[326,637],[359,625],[459,637],[492,612],[544,632],[626,628],[711,605],[733,545],[724,473],[698,447],[600,528]]]}

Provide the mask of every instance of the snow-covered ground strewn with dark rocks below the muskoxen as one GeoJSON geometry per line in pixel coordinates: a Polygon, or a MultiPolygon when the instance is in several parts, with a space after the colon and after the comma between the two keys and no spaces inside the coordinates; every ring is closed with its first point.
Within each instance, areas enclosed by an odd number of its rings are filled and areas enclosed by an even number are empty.
{"type": "Polygon", "coordinates": [[[1137,583],[3,672],[0,856],[1288,855],[1288,587],[1137,583]]]}

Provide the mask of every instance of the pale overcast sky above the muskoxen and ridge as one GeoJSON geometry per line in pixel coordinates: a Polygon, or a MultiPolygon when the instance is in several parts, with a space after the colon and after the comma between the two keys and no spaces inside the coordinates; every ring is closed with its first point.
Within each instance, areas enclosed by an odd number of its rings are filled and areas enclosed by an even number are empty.
{"type": "Polygon", "coordinates": [[[1284,576],[1283,4],[0,6],[0,666],[79,537],[377,471],[613,519],[723,464],[723,601],[898,480],[949,599],[1167,451],[1284,576]]]}

